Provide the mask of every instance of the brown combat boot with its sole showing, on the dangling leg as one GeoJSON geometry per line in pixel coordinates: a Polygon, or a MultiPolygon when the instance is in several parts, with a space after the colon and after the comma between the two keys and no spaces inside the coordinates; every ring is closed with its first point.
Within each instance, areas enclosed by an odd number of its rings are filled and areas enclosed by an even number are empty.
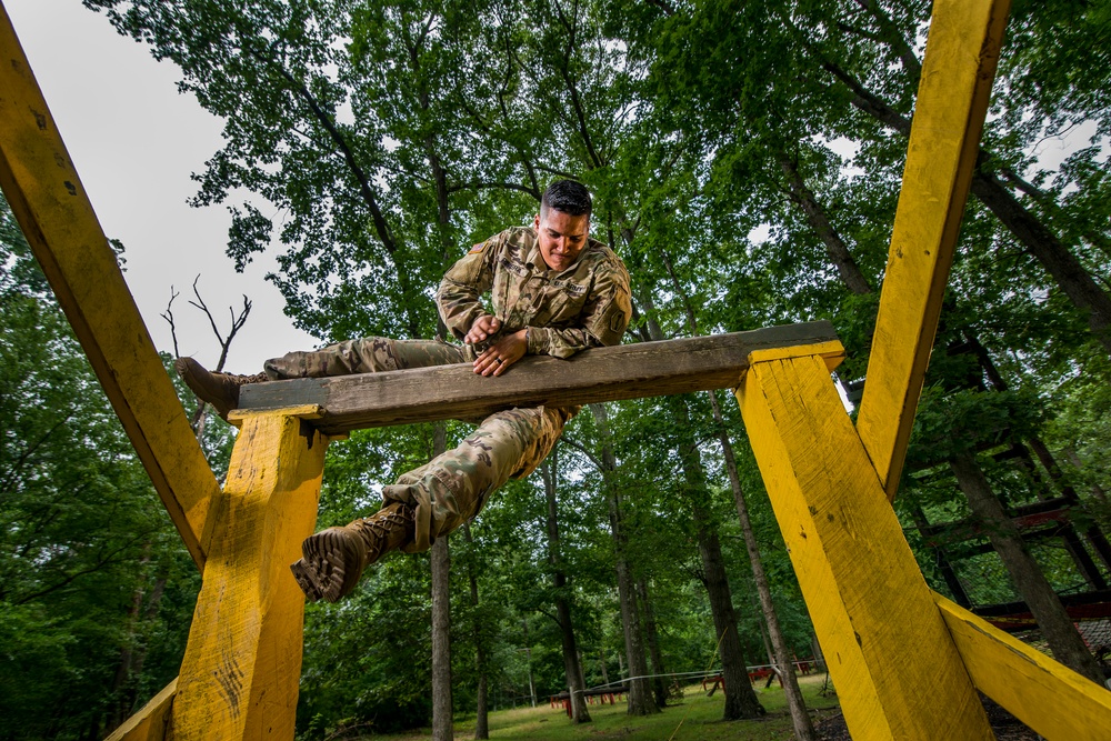
{"type": "Polygon", "coordinates": [[[388,504],[369,518],[306,538],[304,558],[290,570],[310,602],[336,602],[354,589],[367,567],[412,541],[416,528],[411,507],[388,504]]]}

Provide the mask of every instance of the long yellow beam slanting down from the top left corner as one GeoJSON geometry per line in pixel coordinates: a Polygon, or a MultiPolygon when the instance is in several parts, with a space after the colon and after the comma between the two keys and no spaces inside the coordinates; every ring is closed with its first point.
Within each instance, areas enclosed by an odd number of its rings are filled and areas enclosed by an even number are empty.
{"type": "Polygon", "coordinates": [[[219,491],[0,4],[0,188],[197,564],[219,491]]]}

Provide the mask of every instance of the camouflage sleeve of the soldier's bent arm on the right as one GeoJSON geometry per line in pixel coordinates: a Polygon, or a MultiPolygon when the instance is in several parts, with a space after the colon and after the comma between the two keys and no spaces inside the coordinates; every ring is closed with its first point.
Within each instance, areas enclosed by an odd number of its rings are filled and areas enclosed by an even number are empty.
{"type": "Polygon", "coordinates": [[[619,344],[631,317],[629,273],[620,262],[607,263],[583,308],[581,328],[530,327],[529,354],[570,358],[588,348],[619,344]]]}

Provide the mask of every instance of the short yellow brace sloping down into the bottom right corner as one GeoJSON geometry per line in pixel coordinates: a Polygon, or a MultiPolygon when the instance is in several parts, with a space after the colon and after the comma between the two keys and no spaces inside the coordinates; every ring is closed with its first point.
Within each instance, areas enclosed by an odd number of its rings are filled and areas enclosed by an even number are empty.
{"type": "Polygon", "coordinates": [[[940,594],[977,688],[1049,741],[1111,739],[1111,692],[940,594]]]}

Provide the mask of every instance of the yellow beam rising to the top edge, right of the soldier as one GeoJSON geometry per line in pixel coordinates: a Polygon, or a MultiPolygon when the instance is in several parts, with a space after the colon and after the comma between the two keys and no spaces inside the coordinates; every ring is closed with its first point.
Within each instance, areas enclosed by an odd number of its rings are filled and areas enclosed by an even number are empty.
{"type": "Polygon", "coordinates": [[[857,430],[894,499],[1010,0],[935,0],[857,430]]]}

